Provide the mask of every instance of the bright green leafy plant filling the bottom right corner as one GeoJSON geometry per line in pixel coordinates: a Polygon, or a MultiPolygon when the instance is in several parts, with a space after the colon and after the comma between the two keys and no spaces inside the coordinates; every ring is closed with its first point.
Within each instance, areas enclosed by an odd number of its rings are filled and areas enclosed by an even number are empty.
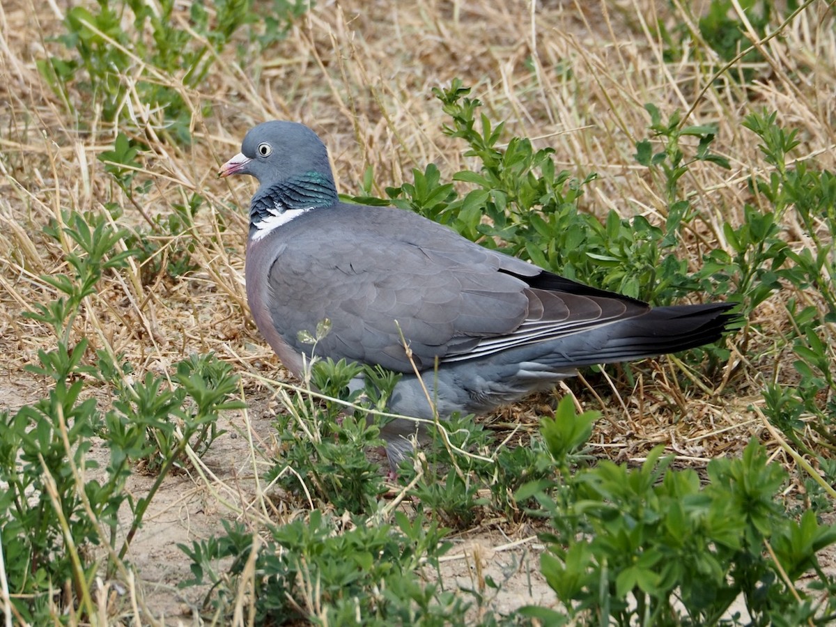
{"type": "Polygon", "coordinates": [[[702,487],[696,472],[671,470],[660,447],[639,468],[603,461],[571,472],[568,454],[589,436],[589,419],[579,422],[544,423],[560,480],[518,495],[550,512],[543,574],[575,623],[716,624],[740,594],[753,624],[833,613],[832,601],[795,583],[813,568],[833,587],[816,554],[836,543],[836,525],[813,512],[788,517],[777,500],[787,473],[757,441],[741,459],[711,461],[702,487]]]}

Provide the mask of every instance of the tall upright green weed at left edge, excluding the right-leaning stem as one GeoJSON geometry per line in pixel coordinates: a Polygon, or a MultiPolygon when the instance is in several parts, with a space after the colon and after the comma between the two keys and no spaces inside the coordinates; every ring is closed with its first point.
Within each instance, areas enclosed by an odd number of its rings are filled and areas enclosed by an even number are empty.
{"type": "MultiPolygon", "coordinates": [[[[79,489],[81,477],[95,467],[86,453],[100,419],[95,400],[82,394],[85,375],[94,371],[84,364],[89,342],[73,342],[72,331],[99,279],[124,268],[131,252],[114,252],[125,232],[100,217],[67,213],[63,218],[66,226],[53,223],[44,231],[63,242],[71,274],[44,276],[59,297],[24,314],[54,332],[56,347],[40,349],[38,365],[29,368],[51,380],[52,387],[43,400],[3,414],[0,480],[7,487],[0,497],[0,520],[7,576],[16,594],[25,598],[52,586],[60,589],[69,580],[91,609],[97,563],[85,558],[83,549],[98,543],[105,530],[115,541],[128,472],[120,466],[104,481],[88,480],[79,489]]],[[[16,607],[23,616],[34,615],[23,601],[16,607]]]]}

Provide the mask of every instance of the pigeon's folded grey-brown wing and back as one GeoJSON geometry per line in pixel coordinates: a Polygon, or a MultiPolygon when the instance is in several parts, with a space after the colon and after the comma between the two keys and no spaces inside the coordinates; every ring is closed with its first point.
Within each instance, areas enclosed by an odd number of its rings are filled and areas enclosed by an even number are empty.
{"type": "Polygon", "coordinates": [[[310,217],[283,227],[268,272],[273,324],[300,353],[313,349],[320,357],[410,372],[402,332],[416,366],[426,370],[436,358],[475,359],[648,309],[489,251],[409,212],[343,208],[310,217]],[[351,219],[357,211],[364,212],[362,227],[351,219]],[[375,221],[381,211],[387,213],[375,221]],[[304,344],[299,332],[314,334],[324,319],[329,334],[315,349],[304,344]]]}

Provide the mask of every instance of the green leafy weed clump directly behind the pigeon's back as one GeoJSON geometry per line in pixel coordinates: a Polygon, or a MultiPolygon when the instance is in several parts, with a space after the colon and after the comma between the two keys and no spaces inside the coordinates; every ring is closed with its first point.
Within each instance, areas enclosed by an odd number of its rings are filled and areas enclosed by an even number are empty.
{"type": "MultiPolygon", "coordinates": [[[[650,130],[665,145],[654,153],[650,140],[641,140],[636,159],[661,175],[668,199],[665,225],[655,226],[643,216],[624,219],[614,211],[602,223],[578,206],[585,186],[596,175],[573,178],[568,171],[555,170],[553,149],[534,150],[527,138],[507,140],[504,124],[494,125],[487,115],[479,114],[481,103],[469,93],[460,81],[435,90],[451,118],[446,134],[465,140],[470,146],[466,155],[480,161],[478,171],[457,172],[452,180],[474,189],[460,198],[454,184],[442,182],[431,164],[426,171],[413,171],[412,183],[386,189],[395,206],[444,223],[483,246],[502,247],[503,252],[565,277],[650,303],[669,304],[701,288],[688,275],[686,260],[675,255],[682,229],[695,217],[680,181],[697,161],[728,168],[727,160],[711,150],[713,127],[680,128],[679,115],[664,121],[659,110],[648,104],[650,130]],[[691,137],[698,145],[688,149],[693,154],[686,157],[682,140],[691,137]]],[[[356,200],[369,202],[365,196],[356,200]]]]}

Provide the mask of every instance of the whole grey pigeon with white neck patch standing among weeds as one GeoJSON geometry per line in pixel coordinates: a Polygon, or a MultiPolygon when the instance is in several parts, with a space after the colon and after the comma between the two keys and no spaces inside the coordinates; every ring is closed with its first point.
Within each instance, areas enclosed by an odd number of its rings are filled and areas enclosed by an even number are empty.
{"type": "MultiPolygon", "coordinates": [[[[245,271],[257,328],[299,378],[314,354],[401,373],[399,415],[485,415],[580,367],[709,344],[737,322],[732,303],[651,308],[414,212],[340,201],[326,146],[296,122],[249,130],[218,176],[238,174],[259,183],[245,271]],[[306,341],[325,320],[329,332],[306,341]]],[[[381,430],[393,472],[423,435],[416,425],[381,430]]]]}

